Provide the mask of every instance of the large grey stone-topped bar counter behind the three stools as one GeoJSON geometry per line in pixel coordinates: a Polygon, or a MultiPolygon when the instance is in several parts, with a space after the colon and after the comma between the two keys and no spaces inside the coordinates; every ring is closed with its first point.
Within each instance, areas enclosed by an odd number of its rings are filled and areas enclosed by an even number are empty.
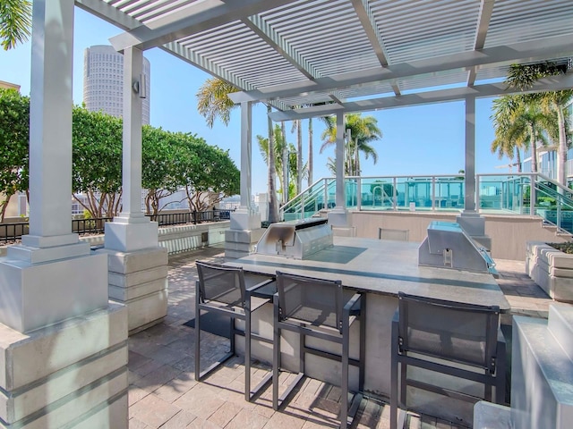
{"type": "MultiPolygon", "coordinates": [[[[492,274],[418,266],[418,247],[419,243],[415,242],[334,237],[333,247],[312,254],[304,260],[252,254],[229,261],[227,265],[242,266],[246,273],[273,275],[282,271],[326,280],[340,280],[346,288],[365,292],[367,338],[364,390],[389,398],[390,331],[392,317],[398,308],[398,291],[423,297],[498,306],[501,312],[508,312],[510,308],[492,274]]],[[[272,291],[268,290],[268,293],[272,291]]],[[[257,322],[255,329],[271,337],[272,306],[267,307],[269,309],[266,315],[263,312],[264,316],[257,322]]],[[[350,332],[351,357],[357,357],[358,332],[358,326],[353,325],[350,332]]],[[[295,369],[298,357],[297,340],[286,338],[283,343],[282,363],[295,369]]],[[[254,356],[259,355],[261,360],[271,361],[269,348],[261,344],[257,349],[253,348],[254,356]]],[[[336,349],[328,351],[337,352],[336,349]]],[[[320,357],[309,356],[305,373],[338,384],[339,364],[328,362],[328,365],[325,365],[326,362],[320,357]]],[[[354,369],[351,368],[351,377],[354,369]]],[[[354,381],[351,380],[351,389],[356,386],[357,377],[354,381]]],[[[435,412],[439,412],[444,418],[456,418],[458,413],[464,412],[455,406],[442,408],[442,402],[436,401],[435,398],[428,400],[439,407],[435,412]]],[[[469,412],[471,413],[471,410],[469,412]]]]}

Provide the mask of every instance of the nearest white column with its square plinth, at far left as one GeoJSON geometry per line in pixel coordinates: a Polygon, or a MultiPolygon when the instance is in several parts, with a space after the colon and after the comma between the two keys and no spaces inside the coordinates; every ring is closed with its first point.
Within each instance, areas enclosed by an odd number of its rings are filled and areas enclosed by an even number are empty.
{"type": "Polygon", "coordinates": [[[72,233],[73,4],[33,4],[30,235],[0,258],[0,323],[19,332],[107,307],[106,259],[72,233]]]}

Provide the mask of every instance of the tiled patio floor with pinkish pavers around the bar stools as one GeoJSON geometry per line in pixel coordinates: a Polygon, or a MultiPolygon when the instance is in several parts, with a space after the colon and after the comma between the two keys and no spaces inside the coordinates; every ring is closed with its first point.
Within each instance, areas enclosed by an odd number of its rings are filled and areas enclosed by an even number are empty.
{"type": "MultiPolygon", "coordinates": [[[[169,301],[165,321],[129,340],[130,429],[310,429],[337,427],[338,387],[306,379],[286,408],[275,412],[270,385],[253,402],[244,400],[242,357],[227,361],[217,372],[196,383],[193,377],[194,330],[184,325],[194,317],[196,259],[220,261],[221,248],[204,248],[169,258],[169,301]]],[[[528,279],[525,265],[498,261],[500,287],[512,312],[545,315],[551,299],[528,279]]],[[[224,339],[203,333],[205,363],[227,350],[224,339]]],[[[269,368],[261,366],[256,377],[269,368]]],[[[389,406],[380,400],[364,399],[356,428],[389,427],[389,406]]],[[[408,416],[410,428],[454,428],[430,416],[408,416]]]]}

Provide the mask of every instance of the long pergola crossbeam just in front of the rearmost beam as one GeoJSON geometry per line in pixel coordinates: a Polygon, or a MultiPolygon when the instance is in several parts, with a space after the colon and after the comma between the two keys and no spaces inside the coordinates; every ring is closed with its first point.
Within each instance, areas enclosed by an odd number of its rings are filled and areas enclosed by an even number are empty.
{"type": "Polygon", "coordinates": [[[316,80],[303,80],[284,85],[258,88],[252,91],[236,92],[229,97],[235,103],[272,100],[280,97],[296,97],[301,94],[328,93],[335,89],[351,88],[373,82],[396,81],[426,73],[543,61],[567,56],[573,56],[573,45],[569,39],[560,37],[544,38],[537,42],[496,46],[484,48],[480,51],[443,55],[410,63],[391,64],[386,68],[375,67],[364,71],[341,73],[316,80]]]}

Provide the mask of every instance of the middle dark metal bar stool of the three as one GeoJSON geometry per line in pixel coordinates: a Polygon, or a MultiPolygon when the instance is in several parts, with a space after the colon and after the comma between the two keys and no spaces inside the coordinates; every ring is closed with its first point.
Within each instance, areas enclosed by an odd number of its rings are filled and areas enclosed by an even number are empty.
{"type": "Polygon", "coordinates": [[[277,290],[274,297],[273,408],[277,410],[304,377],[306,353],[327,357],[342,364],[340,427],[346,428],[352,424],[362,400],[365,350],[364,297],[360,293],[355,293],[352,297],[346,298],[340,281],[330,282],[280,272],[277,272],[277,290]],[[356,360],[349,357],[349,329],[358,319],[360,357],[356,360]],[[298,375],[279,398],[280,337],[283,329],[299,333],[300,356],[298,375]],[[304,341],[307,336],[341,344],[342,355],[308,347],[304,341]],[[358,366],[359,369],[358,392],[355,393],[350,408],[348,407],[349,364],[358,366]]]}

